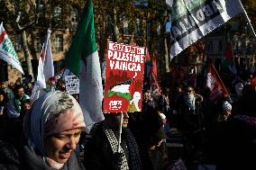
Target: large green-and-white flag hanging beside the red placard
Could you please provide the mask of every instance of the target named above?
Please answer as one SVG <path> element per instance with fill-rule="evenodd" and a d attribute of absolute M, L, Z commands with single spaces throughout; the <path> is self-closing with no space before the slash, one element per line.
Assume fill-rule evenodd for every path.
<path fill-rule="evenodd" d="M 93 4 L 87 0 L 78 30 L 67 52 L 66 67 L 80 79 L 79 103 L 84 112 L 87 132 L 99 121 L 102 112 L 103 86 L 98 52 L 96 49 Z"/>

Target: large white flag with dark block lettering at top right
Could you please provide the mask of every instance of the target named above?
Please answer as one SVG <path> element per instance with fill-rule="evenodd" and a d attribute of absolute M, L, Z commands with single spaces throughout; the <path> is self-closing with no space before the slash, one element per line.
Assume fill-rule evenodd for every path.
<path fill-rule="evenodd" d="M 172 7 L 170 59 L 242 13 L 239 0 L 176 0 Z"/>

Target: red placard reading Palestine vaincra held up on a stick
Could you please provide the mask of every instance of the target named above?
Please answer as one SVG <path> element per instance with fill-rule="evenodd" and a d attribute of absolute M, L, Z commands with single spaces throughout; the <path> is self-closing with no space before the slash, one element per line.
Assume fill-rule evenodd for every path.
<path fill-rule="evenodd" d="M 104 112 L 141 112 L 145 48 L 108 42 Z"/>

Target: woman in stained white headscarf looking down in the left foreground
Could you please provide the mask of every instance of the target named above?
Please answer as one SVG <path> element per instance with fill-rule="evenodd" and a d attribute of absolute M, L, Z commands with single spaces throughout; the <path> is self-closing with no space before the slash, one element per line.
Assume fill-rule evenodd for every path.
<path fill-rule="evenodd" d="M 83 170 L 74 150 L 85 127 L 74 97 L 59 91 L 44 94 L 26 115 L 18 145 L 0 141 L 0 169 Z"/>

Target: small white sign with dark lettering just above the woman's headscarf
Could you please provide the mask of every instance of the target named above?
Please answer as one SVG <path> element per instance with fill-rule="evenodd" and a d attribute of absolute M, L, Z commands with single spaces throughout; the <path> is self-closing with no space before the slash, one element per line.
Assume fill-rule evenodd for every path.
<path fill-rule="evenodd" d="M 69 94 L 79 94 L 78 76 L 65 76 L 65 84 Z"/>

